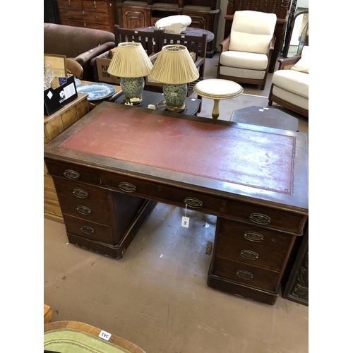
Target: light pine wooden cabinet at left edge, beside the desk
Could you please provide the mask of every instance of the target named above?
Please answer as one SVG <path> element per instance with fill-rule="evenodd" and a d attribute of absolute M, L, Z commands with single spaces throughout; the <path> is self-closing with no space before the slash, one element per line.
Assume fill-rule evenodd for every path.
<path fill-rule="evenodd" d="M 78 98 L 52 115 L 44 115 L 44 147 L 88 113 L 88 95 L 78 93 Z M 44 163 L 44 217 L 64 223 L 59 199 L 52 177 L 47 175 Z"/>

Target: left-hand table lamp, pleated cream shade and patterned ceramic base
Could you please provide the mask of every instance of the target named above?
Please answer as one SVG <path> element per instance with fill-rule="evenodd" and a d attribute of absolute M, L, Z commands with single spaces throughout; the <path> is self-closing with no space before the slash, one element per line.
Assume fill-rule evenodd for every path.
<path fill-rule="evenodd" d="M 145 78 L 152 68 L 150 58 L 140 43 L 119 43 L 108 67 L 108 73 L 120 78 L 126 100 L 140 104 Z"/>

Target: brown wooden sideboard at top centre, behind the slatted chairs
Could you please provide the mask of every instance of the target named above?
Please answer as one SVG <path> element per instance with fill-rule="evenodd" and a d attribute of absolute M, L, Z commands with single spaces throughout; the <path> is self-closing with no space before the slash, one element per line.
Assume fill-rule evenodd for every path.
<path fill-rule="evenodd" d="M 191 17 L 191 27 L 213 32 L 215 38 L 208 42 L 208 57 L 216 52 L 220 0 L 117 0 L 116 13 L 121 28 L 153 26 L 160 18 L 186 15 Z"/>

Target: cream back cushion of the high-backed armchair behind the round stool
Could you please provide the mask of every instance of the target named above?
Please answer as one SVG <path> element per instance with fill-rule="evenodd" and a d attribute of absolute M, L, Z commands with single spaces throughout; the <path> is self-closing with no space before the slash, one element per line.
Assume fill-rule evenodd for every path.
<path fill-rule="evenodd" d="M 259 11 L 236 11 L 230 32 L 229 50 L 268 54 L 277 16 Z"/>

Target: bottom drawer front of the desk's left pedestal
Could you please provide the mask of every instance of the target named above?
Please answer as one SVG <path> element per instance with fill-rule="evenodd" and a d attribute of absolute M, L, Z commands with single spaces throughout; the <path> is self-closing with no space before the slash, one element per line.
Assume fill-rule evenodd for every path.
<path fill-rule="evenodd" d="M 63 215 L 66 232 L 78 235 L 83 238 L 101 241 L 102 243 L 113 244 L 112 229 L 106 225 L 100 225 L 88 220 Z"/>

